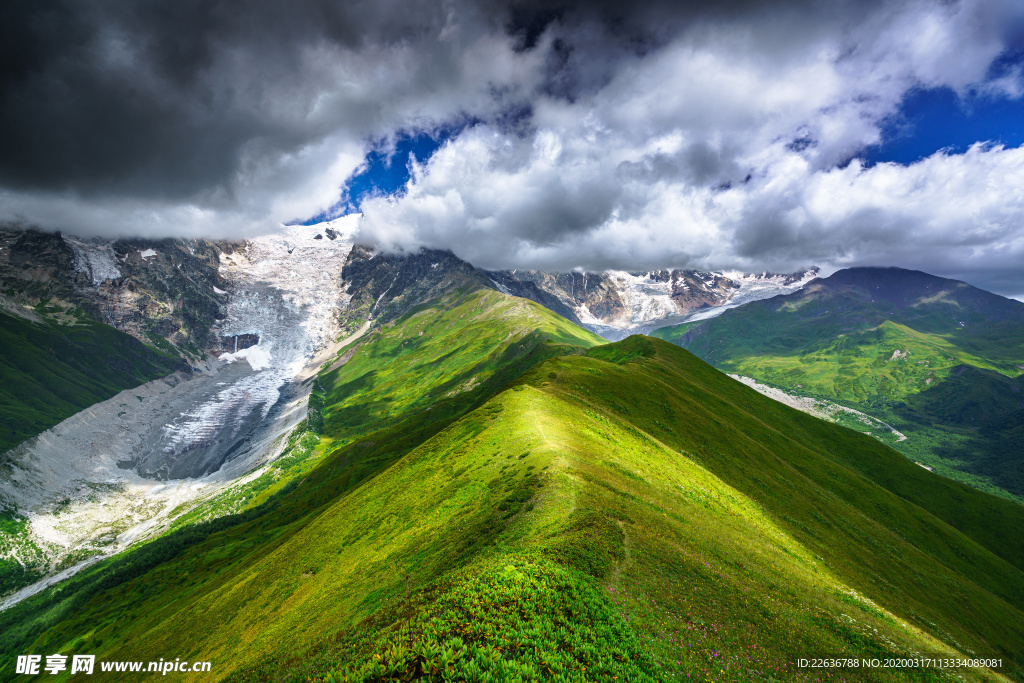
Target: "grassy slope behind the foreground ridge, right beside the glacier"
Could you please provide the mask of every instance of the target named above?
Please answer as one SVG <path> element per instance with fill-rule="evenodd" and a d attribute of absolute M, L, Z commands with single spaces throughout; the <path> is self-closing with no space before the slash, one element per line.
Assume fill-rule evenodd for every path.
<path fill-rule="evenodd" d="M 343 459 L 344 476 L 354 484 L 526 368 L 603 341 L 549 310 L 458 279 L 441 296 L 408 307 L 358 345 L 340 350 L 316 379 L 309 418 L 291 436 L 285 457 L 175 525 L 260 505 L 327 457 Z M 353 458 L 345 449 L 359 439 Z"/>

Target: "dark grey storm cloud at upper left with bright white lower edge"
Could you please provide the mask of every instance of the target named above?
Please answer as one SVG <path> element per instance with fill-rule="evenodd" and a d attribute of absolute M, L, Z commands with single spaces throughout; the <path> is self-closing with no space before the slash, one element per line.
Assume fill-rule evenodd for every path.
<path fill-rule="evenodd" d="M 528 111 L 544 58 L 513 29 L 465 3 L 13 0 L 0 220 L 238 234 L 315 214 L 371 141 Z"/>

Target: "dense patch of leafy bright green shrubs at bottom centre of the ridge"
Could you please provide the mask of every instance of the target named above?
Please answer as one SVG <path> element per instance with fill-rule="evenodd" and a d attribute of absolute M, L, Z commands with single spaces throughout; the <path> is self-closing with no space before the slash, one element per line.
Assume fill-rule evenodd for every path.
<path fill-rule="evenodd" d="M 510 558 L 447 588 L 416 620 L 364 646 L 365 664 L 329 682 L 656 680 L 654 661 L 592 580 Z M 360 657 L 360 659 L 364 657 Z M 314 677 L 315 678 L 315 677 Z"/>

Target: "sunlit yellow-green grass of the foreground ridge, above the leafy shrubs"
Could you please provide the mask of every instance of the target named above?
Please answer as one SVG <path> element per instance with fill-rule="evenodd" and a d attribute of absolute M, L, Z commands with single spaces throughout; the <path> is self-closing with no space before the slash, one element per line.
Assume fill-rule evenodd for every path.
<path fill-rule="evenodd" d="M 602 455 L 596 462 L 595 453 Z M 848 589 L 741 495 L 685 458 L 667 460 L 673 455 L 679 458 L 630 425 L 582 414 L 542 388 L 503 392 L 295 529 L 236 582 L 179 604 L 170 616 L 151 611 L 160 598 L 147 599 L 139 609 L 144 617 L 122 627 L 121 633 L 130 633 L 122 651 L 140 658 L 180 651 L 186 647 L 182 634 L 194 645 L 215 617 L 220 635 L 206 636 L 210 649 L 189 657 L 248 659 L 243 678 L 260 680 L 276 677 L 276 669 L 252 661 L 253 651 L 273 653 L 284 641 L 290 652 L 310 647 L 312 658 L 328 666 L 333 653 L 323 635 L 337 631 L 344 642 L 346 624 L 400 604 L 407 575 L 416 589 L 451 567 L 486 575 L 508 561 L 508 553 L 523 550 L 567 559 L 574 570 L 607 581 L 606 595 L 622 598 L 620 609 L 648 656 L 673 663 L 660 677 L 703 671 L 734 680 L 733 674 L 752 669 L 771 677 L 769 671 L 785 667 L 793 647 L 885 651 L 871 629 L 882 629 L 897 649 L 941 647 L 866 607 L 854 612 L 857 628 L 841 628 L 838 614 L 845 612 L 822 614 L 821 606 L 849 611 L 840 597 L 849 598 Z M 605 468 L 609 458 L 618 467 Z M 677 481 L 695 490 L 672 490 Z M 532 509 L 522 504 L 522 488 L 532 489 L 525 499 Z M 694 523 L 700 525 L 695 533 L 681 528 Z M 774 582 L 762 585 L 766 575 Z M 240 579 L 246 586 L 241 592 Z M 680 592 L 681 586 L 699 590 Z M 648 604 L 652 591 L 659 607 Z M 735 620 L 737 611 L 755 616 L 753 625 Z M 697 647 L 684 653 L 679 643 L 658 638 L 667 622 L 688 627 Z M 225 634 L 231 636 L 224 640 Z M 716 652 L 727 660 L 712 665 Z M 669 653 L 683 657 L 681 664 L 666 659 Z M 553 658 L 554 652 L 543 654 Z M 891 680 L 927 679 L 908 674 Z"/>

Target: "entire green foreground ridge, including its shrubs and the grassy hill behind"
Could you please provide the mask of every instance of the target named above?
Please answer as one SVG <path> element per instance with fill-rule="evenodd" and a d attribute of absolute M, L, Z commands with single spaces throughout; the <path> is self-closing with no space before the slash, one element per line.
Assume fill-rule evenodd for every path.
<path fill-rule="evenodd" d="M 928 681 L 954 679 L 795 661 L 959 652 L 1004 664 L 956 680 L 1024 680 L 1024 508 L 665 342 L 598 342 L 494 291 L 407 312 L 321 373 L 301 478 L 0 612 L 0 678 L 59 651 L 231 681 Z"/>

